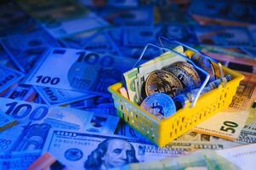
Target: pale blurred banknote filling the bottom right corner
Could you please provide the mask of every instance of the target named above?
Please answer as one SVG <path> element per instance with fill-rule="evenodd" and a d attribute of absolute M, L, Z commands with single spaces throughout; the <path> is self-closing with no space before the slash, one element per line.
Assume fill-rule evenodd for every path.
<path fill-rule="evenodd" d="M 226 150 L 201 150 L 188 156 L 133 163 L 116 169 L 254 169 L 256 144 Z"/>

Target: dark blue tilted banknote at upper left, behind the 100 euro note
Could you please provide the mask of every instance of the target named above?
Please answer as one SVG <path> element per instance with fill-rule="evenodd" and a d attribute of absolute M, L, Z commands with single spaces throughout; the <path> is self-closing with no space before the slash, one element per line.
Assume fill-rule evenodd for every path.
<path fill-rule="evenodd" d="M 2 39 L 3 48 L 9 53 L 11 59 L 20 69 L 28 72 L 50 47 L 60 47 L 54 37 L 43 28 L 14 35 Z"/>

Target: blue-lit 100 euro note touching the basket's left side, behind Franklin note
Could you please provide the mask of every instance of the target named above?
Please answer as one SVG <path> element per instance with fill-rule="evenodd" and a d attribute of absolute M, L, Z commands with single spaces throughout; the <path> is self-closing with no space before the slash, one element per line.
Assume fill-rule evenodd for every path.
<path fill-rule="evenodd" d="M 128 71 L 134 63 L 134 59 L 110 54 L 53 48 L 38 61 L 25 83 L 105 95 L 107 88 L 122 81 L 122 72 Z"/>

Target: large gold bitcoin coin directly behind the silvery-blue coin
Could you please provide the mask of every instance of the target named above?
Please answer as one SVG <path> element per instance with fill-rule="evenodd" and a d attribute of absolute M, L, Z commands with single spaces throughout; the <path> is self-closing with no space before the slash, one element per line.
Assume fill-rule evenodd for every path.
<path fill-rule="evenodd" d="M 145 81 L 145 94 L 168 94 L 174 97 L 184 90 L 182 82 L 173 73 L 168 71 L 153 71 Z"/>

